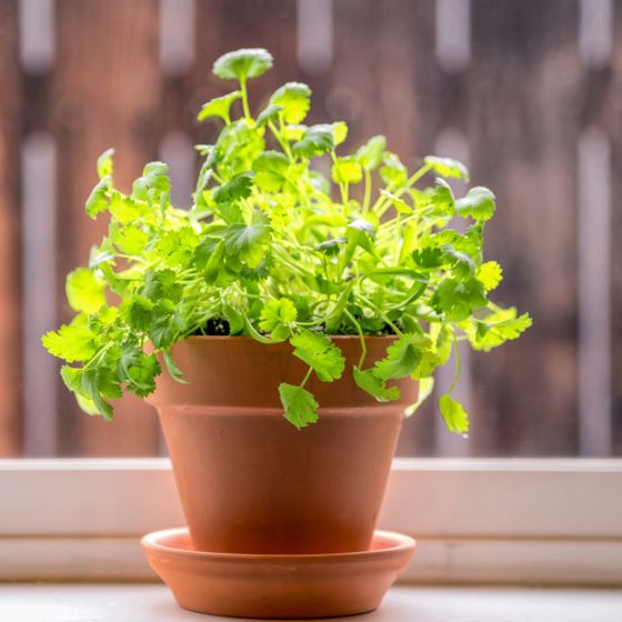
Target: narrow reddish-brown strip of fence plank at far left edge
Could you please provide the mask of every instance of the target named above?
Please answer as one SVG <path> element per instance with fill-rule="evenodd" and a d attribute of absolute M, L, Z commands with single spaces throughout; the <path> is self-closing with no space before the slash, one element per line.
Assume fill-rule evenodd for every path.
<path fill-rule="evenodd" d="M 0 458 L 21 453 L 18 2 L 0 2 Z"/>

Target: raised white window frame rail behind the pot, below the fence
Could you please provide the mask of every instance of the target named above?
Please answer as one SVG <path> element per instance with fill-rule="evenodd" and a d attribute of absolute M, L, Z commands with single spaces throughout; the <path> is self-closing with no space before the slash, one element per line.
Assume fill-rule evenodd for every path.
<path fill-rule="evenodd" d="M 620 586 L 620 490 L 622 460 L 402 459 L 379 526 L 418 540 L 404 583 Z M 163 459 L 0 461 L 0 581 L 153 580 L 140 536 L 183 524 Z"/>

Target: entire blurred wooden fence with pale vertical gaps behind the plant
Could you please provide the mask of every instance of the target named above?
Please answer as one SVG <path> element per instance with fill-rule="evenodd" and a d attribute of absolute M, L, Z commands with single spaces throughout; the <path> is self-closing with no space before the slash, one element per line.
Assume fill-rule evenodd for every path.
<path fill-rule="evenodd" d="M 116 148 L 126 187 L 170 161 L 183 204 L 192 144 L 213 137 L 194 121 L 222 89 L 211 63 L 258 46 L 275 69 L 255 102 L 305 81 L 312 121 L 344 119 L 349 146 L 462 157 L 496 193 L 498 295 L 534 325 L 466 357 L 471 439 L 429 404 L 401 451 L 621 454 L 622 1 L 0 0 L 0 455 L 161 451 L 136 399 L 112 424 L 80 414 L 39 337 L 102 233 L 82 211 L 97 156 Z"/>

